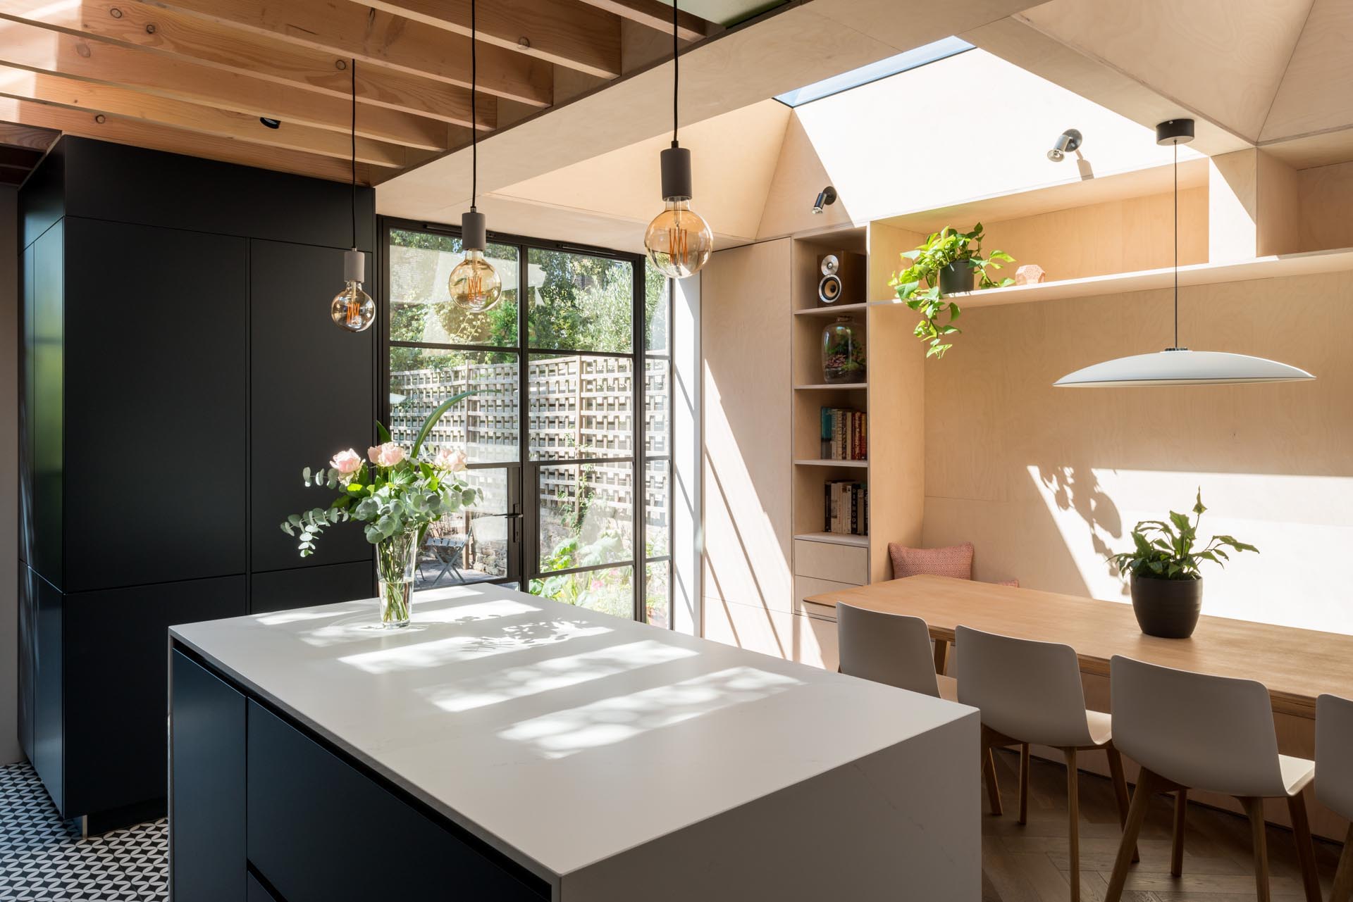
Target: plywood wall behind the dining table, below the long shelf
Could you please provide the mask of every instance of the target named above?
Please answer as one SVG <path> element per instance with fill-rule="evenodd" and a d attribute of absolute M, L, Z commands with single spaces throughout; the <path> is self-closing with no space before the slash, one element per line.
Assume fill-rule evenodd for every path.
<path fill-rule="evenodd" d="M 1170 293 L 970 310 L 925 365 L 925 545 L 971 541 L 976 577 L 1127 600 L 1104 561 L 1187 510 L 1260 546 L 1207 571 L 1204 613 L 1353 633 L 1353 273 L 1188 288 L 1180 339 L 1281 360 L 1312 383 L 1053 388 L 1170 343 Z"/>

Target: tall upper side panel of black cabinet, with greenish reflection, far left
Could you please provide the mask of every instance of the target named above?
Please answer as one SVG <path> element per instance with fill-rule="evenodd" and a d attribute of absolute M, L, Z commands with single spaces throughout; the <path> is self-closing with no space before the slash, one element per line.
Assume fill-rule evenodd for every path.
<path fill-rule="evenodd" d="M 32 245 L 32 495 L 31 564 L 62 588 L 62 468 L 65 399 L 65 220 Z"/>

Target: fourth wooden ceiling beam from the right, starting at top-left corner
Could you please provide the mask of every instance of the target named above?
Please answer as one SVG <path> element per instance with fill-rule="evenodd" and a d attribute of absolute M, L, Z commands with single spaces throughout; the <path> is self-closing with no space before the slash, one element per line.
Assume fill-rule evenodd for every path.
<path fill-rule="evenodd" d="M 0 0 L 0 15 L 91 35 L 145 50 L 184 57 L 265 81 L 346 100 L 352 85 L 348 57 L 249 34 L 199 16 L 127 0 Z M 341 68 L 340 68 L 341 66 Z M 469 126 L 469 92 L 444 81 L 384 66 L 357 68 L 357 100 L 457 126 Z M 492 128 L 497 103 L 480 97 L 479 127 Z"/>

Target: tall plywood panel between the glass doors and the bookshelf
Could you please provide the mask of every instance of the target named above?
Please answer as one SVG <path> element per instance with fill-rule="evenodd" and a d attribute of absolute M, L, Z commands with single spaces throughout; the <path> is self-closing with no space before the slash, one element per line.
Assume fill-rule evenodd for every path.
<path fill-rule="evenodd" d="M 701 272 L 706 630 L 723 617 L 773 636 L 771 614 L 790 614 L 790 245 L 721 250 Z"/>

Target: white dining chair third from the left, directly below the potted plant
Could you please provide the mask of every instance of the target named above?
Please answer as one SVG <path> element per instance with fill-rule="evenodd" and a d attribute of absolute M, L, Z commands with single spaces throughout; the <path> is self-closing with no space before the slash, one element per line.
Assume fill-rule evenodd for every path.
<path fill-rule="evenodd" d="M 1260 902 L 1269 899 L 1264 799 L 1285 799 L 1307 902 L 1321 902 L 1315 847 L 1302 795 L 1315 775 L 1315 763 L 1279 755 L 1273 702 L 1264 684 L 1114 656 L 1109 686 L 1114 741 L 1123 755 L 1142 765 L 1142 771 L 1109 878 L 1107 902 L 1118 902 L 1123 895 L 1131 864 L 1128 848 L 1137 841 L 1154 792 L 1176 794 L 1170 874 L 1180 876 L 1188 790 L 1233 795 L 1241 802 L 1250 818 Z"/>

